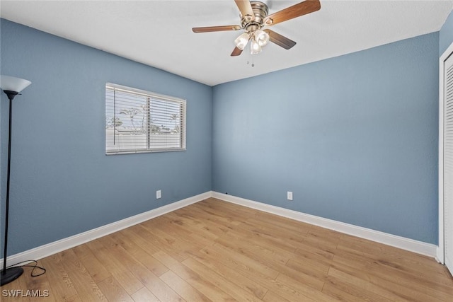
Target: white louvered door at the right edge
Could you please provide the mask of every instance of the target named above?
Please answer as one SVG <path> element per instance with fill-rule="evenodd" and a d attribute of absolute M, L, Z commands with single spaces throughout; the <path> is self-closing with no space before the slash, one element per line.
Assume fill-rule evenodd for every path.
<path fill-rule="evenodd" d="M 453 54 L 444 62 L 443 191 L 445 265 L 453 274 Z"/>

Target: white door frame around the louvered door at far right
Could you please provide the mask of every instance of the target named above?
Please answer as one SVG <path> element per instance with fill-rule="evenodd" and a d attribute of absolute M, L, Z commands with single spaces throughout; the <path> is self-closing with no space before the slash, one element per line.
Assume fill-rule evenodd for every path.
<path fill-rule="evenodd" d="M 445 264 L 445 212 L 444 212 L 444 64 L 453 55 L 453 42 L 439 58 L 439 244 L 437 247 L 437 261 Z"/>

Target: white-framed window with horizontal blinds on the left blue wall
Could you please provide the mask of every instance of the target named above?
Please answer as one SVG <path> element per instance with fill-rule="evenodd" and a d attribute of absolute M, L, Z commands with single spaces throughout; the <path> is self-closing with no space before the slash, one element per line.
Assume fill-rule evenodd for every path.
<path fill-rule="evenodd" d="M 185 150 L 185 100 L 105 85 L 105 153 Z"/>

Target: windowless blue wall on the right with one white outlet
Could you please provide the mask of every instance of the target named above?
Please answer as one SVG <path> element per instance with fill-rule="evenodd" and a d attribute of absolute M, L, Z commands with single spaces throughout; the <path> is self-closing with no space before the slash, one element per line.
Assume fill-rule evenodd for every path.
<path fill-rule="evenodd" d="M 432 33 L 214 86 L 213 190 L 437 243 L 438 53 Z"/>

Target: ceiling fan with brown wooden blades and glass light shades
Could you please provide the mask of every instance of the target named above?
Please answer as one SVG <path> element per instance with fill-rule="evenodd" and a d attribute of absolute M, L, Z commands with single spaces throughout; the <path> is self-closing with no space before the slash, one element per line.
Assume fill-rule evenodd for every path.
<path fill-rule="evenodd" d="M 244 48 L 250 42 L 251 54 L 258 54 L 261 52 L 261 47 L 273 42 L 276 45 L 289 50 L 289 48 L 296 45 L 296 42 L 289 40 L 287 37 L 282 36 L 275 31 L 268 28 L 262 29 L 265 26 L 275 25 L 292 18 L 304 16 L 307 13 L 319 11 L 321 4 L 319 0 L 306 0 L 299 4 L 289 6 L 282 11 L 268 15 L 268 6 L 260 1 L 250 0 L 234 0 L 239 8 L 239 16 L 241 17 L 241 25 L 222 25 L 222 26 L 207 26 L 202 28 L 192 28 L 194 33 L 209 33 L 215 31 L 226 30 L 245 30 L 245 33 L 239 35 L 234 40 L 233 52 L 231 56 L 239 56 Z"/>

